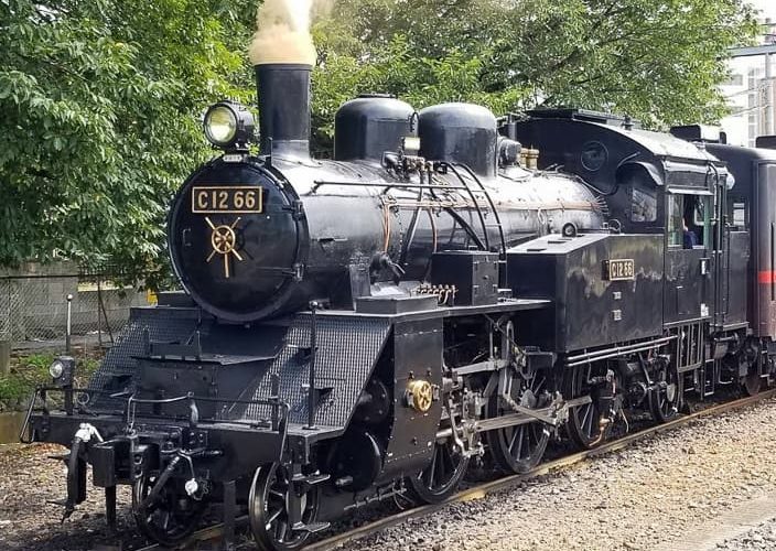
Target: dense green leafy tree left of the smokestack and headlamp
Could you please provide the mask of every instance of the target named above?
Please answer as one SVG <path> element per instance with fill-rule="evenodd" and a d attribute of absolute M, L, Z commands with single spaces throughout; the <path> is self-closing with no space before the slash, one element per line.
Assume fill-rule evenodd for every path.
<path fill-rule="evenodd" d="M 165 206 L 212 154 L 200 114 L 250 97 L 252 10 L 0 0 L 0 264 L 61 256 L 159 269 Z"/>

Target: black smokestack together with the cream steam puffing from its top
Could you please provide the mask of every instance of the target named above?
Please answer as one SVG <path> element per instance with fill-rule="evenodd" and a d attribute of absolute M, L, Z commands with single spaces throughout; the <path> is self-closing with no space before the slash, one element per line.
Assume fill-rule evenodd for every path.
<path fill-rule="evenodd" d="M 261 153 L 310 158 L 313 0 L 265 0 L 250 45 L 259 93 Z"/>

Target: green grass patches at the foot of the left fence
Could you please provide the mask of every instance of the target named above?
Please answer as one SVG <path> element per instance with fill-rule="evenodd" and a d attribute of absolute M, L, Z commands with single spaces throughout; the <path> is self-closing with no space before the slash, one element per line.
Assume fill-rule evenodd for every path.
<path fill-rule="evenodd" d="M 36 386 L 51 383 L 48 366 L 55 357 L 55 354 L 32 354 L 12 360 L 10 375 L 0 376 L 0 411 L 19 409 Z M 76 361 L 76 387 L 85 386 L 99 367 L 99 359 L 86 352 L 77 355 Z"/>

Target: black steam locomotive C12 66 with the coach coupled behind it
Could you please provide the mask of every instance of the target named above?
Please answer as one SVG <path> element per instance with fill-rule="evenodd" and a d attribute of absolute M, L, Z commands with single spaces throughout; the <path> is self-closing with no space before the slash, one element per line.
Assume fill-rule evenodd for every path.
<path fill-rule="evenodd" d="M 295 549 L 444 499 L 473 458 L 525 472 L 561 432 L 592 447 L 776 371 L 776 152 L 364 96 L 314 160 L 310 72 L 257 67 L 259 156 L 245 108 L 209 109 L 224 153 L 169 218 L 185 292 L 133 310 L 87 389 L 60 358 L 36 392 L 25 437 L 69 447 L 65 515 L 91 465 L 108 520 L 130 485 L 163 544 L 223 503 L 227 534 L 244 508 L 260 548 Z"/>

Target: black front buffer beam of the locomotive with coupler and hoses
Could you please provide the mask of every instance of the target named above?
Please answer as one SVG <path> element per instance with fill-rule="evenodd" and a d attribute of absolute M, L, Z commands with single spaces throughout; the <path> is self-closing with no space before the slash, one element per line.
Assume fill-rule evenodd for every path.
<path fill-rule="evenodd" d="M 58 456 L 67 466 L 63 521 L 86 499 L 86 471 L 91 465 L 94 485 L 105 488 L 106 519 L 116 521 L 116 487 L 153 477 L 153 487 L 138 504 L 154 501 L 172 479 L 181 480 L 182 497 L 201 500 L 215 484 L 223 485 L 226 511 L 234 514 L 234 480 L 249 476 L 257 465 L 280 461 L 285 447 L 288 404 L 277 398 L 242 403 L 265 406 L 266 420 L 200 419 L 198 401 L 187 395 L 168 400 L 127 401 L 123 413 L 98 413 L 84 407 L 69 411 L 53 410 L 47 392 L 39 389 L 31 401 L 22 429 L 22 442 L 54 442 L 69 446 Z M 116 398 L 116 397 L 111 397 Z M 164 407 L 186 401 L 191 414 L 183 420 L 164 415 Z M 211 399 L 212 401 L 212 399 Z M 138 406 L 149 411 L 138 412 Z M 185 484 L 183 484 L 185 483 Z M 225 519 L 229 522 L 229 519 Z M 234 527 L 234 519 L 229 522 Z"/>

